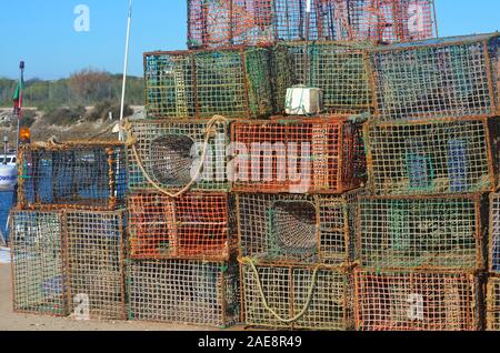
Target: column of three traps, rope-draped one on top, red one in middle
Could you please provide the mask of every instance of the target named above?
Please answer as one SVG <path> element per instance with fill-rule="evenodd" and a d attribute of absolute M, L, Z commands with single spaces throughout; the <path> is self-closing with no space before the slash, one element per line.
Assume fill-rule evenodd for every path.
<path fill-rule="evenodd" d="M 128 317 L 230 326 L 240 321 L 229 122 L 133 122 L 129 148 Z M 202 155 L 206 155 L 202 172 Z M 189 192 L 177 193 L 194 181 Z"/>

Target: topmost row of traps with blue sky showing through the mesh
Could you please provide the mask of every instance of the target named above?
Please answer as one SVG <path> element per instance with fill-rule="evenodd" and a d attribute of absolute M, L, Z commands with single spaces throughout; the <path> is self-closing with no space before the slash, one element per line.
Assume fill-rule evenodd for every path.
<path fill-rule="evenodd" d="M 420 40 L 434 34 L 433 10 L 428 0 L 189 0 L 188 46 Z"/>

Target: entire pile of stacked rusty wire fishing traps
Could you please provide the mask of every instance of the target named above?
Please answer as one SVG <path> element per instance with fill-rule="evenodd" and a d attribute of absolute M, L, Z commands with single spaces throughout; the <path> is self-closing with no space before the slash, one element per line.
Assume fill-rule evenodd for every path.
<path fill-rule="evenodd" d="M 16 311 L 500 330 L 500 34 L 434 36 L 429 0 L 188 0 L 124 144 L 21 149 Z"/>

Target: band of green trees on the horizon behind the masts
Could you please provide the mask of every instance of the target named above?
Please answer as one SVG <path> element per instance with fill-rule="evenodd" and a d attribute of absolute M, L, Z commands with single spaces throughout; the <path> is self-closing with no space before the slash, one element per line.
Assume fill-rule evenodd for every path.
<path fill-rule="evenodd" d="M 126 101 L 132 105 L 143 104 L 143 80 L 129 77 Z M 37 107 L 53 112 L 58 107 L 97 105 L 102 101 L 120 101 L 122 75 L 86 69 L 68 79 L 57 81 L 28 80 L 24 107 Z M 12 107 L 17 81 L 0 78 L 0 107 Z"/>

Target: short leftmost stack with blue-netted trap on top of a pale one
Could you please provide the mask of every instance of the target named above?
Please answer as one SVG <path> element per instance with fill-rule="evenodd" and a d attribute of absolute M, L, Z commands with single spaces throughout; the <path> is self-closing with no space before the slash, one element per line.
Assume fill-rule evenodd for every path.
<path fill-rule="evenodd" d="M 16 311 L 124 319 L 124 152 L 100 142 L 21 148 Z"/>

